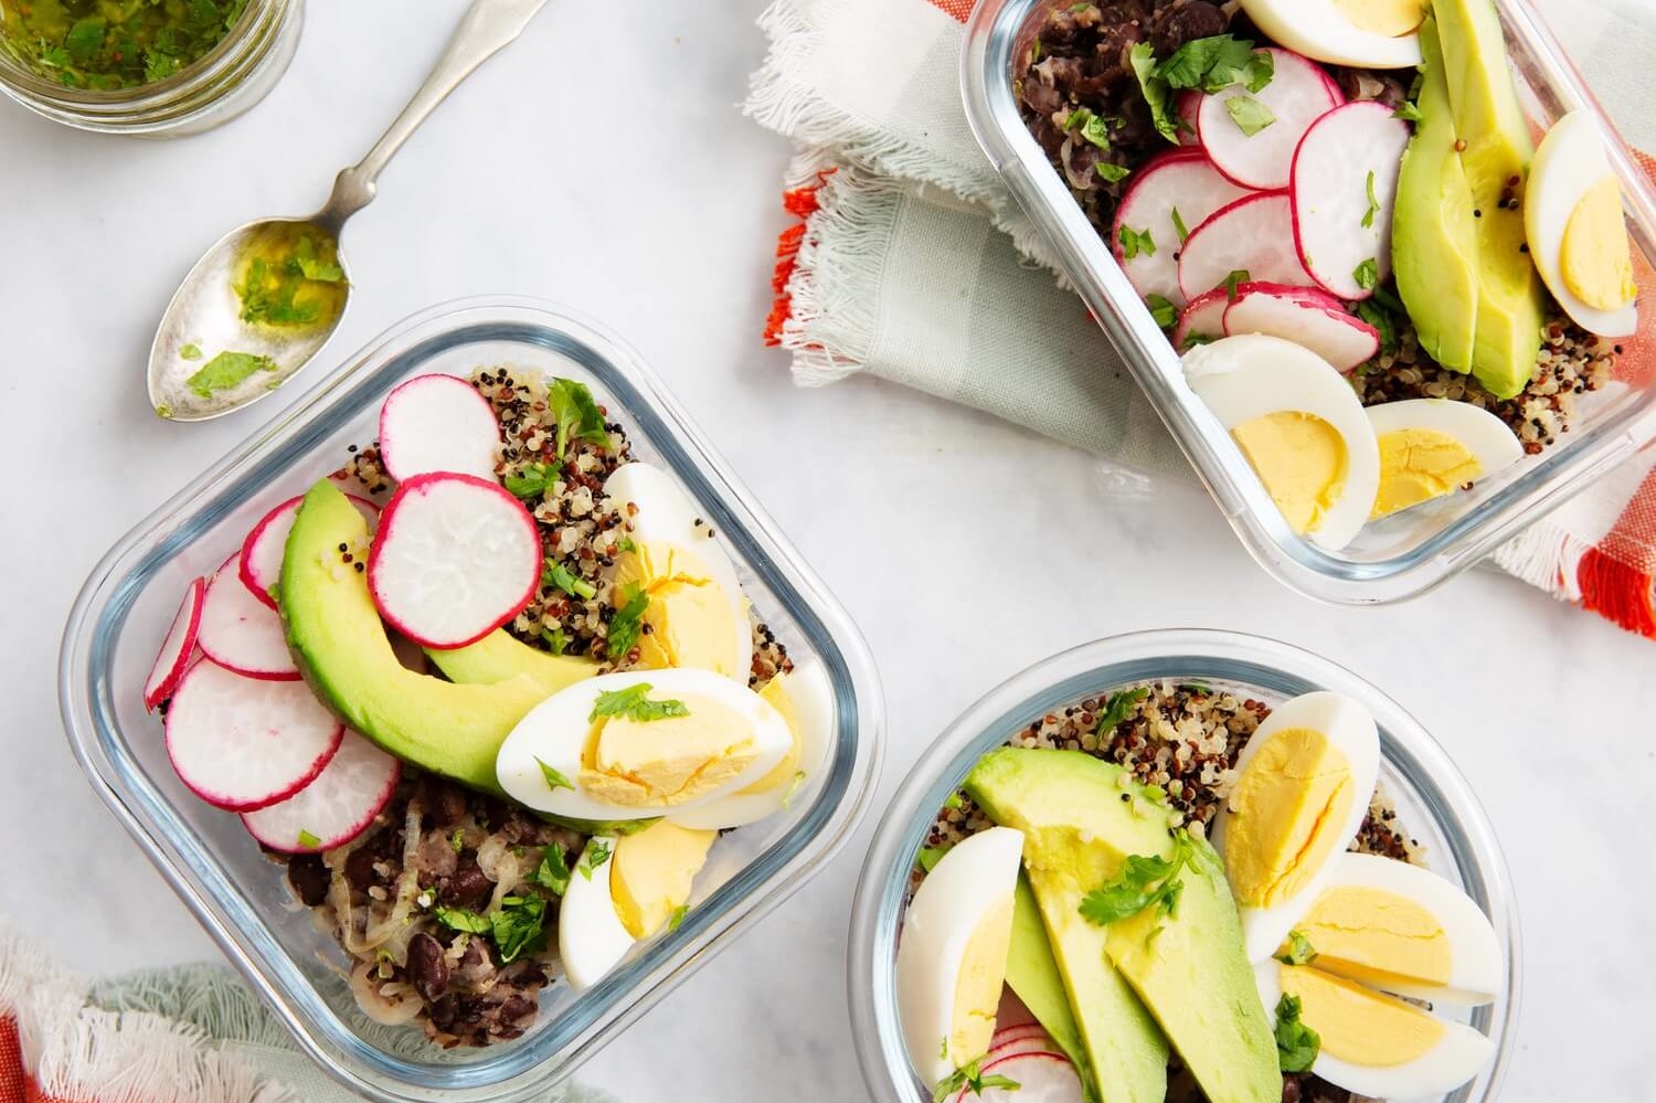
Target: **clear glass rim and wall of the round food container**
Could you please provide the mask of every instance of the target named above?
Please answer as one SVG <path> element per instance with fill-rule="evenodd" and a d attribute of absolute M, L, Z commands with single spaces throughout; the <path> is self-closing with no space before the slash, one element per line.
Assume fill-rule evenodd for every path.
<path fill-rule="evenodd" d="M 879 820 L 851 904 L 851 1032 L 873 1096 L 903 1103 L 931 1100 L 931 1085 L 921 1083 L 903 1040 L 894 967 L 909 871 L 944 800 L 985 752 L 1048 712 L 1159 679 L 1202 682 L 1267 704 L 1331 689 L 1373 714 L 1379 727 L 1379 783 L 1396 807 L 1398 821 L 1424 846 L 1431 869 L 1462 888 L 1495 929 L 1507 967 L 1505 992 L 1494 1004 L 1457 1009 L 1456 1015 L 1490 1037 L 1495 1058 L 1475 1080 L 1442 1096 L 1442 1103 L 1495 1100 L 1519 1017 L 1519 921 L 1494 828 L 1466 778 L 1414 717 L 1351 671 L 1285 643 L 1211 629 L 1110 636 L 1042 659 L 970 706 L 914 763 Z"/>

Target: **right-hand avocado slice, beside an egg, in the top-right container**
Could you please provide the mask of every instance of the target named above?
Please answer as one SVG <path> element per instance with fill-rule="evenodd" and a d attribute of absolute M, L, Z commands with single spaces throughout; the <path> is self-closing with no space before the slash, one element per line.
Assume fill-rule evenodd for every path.
<path fill-rule="evenodd" d="M 1545 298 L 1524 252 L 1524 181 L 1535 144 L 1507 68 L 1507 43 L 1490 0 L 1432 0 L 1437 45 L 1461 167 L 1472 187 L 1477 232 L 1477 333 L 1472 374 L 1512 397 L 1535 374 Z M 1509 200 L 1509 202 L 1504 202 Z"/>

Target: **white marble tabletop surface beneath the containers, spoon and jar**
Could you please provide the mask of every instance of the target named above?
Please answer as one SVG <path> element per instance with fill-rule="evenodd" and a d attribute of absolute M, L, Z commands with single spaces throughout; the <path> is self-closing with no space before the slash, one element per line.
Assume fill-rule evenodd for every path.
<path fill-rule="evenodd" d="M 0 104 L 0 467 L 17 480 L 0 508 L 0 914 L 81 967 L 215 949 L 70 759 L 63 619 L 119 533 L 306 386 L 207 426 L 157 422 L 154 321 L 224 229 L 321 202 L 457 7 L 313 2 L 286 81 L 189 141 L 83 136 Z M 788 151 L 734 108 L 758 8 L 548 5 L 351 227 L 335 353 L 490 290 L 624 330 L 873 646 L 889 745 L 869 821 L 969 701 L 1083 639 L 1211 624 L 1356 667 L 1449 744 L 1505 840 L 1528 966 L 1507 1098 L 1649 1098 L 1656 646 L 1482 571 L 1401 608 L 1323 608 L 1265 578 L 1191 487 L 1123 499 L 1088 455 L 969 411 L 868 381 L 792 389 L 757 341 Z M 866 836 L 583 1075 L 629 1103 L 864 1098 L 841 977 Z"/>

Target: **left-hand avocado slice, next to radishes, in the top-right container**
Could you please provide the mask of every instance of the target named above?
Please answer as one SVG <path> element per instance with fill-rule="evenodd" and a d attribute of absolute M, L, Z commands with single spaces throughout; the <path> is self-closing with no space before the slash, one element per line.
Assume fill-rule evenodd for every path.
<path fill-rule="evenodd" d="M 1421 25 L 1421 121 L 1403 154 L 1391 215 L 1391 272 L 1427 356 L 1472 371 L 1477 331 L 1477 230 L 1472 187 L 1456 154 L 1454 116 L 1437 30 Z"/>

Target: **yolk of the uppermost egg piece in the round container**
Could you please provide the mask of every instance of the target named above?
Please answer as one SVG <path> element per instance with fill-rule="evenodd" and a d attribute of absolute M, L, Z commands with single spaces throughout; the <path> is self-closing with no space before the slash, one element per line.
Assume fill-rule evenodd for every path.
<path fill-rule="evenodd" d="M 1308 727 L 1272 735 L 1227 805 L 1225 873 L 1237 901 L 1270 908 L 1298 894 L 1345 845 L 1353 798 L 1351 763 L 1326 735 Z"/>

